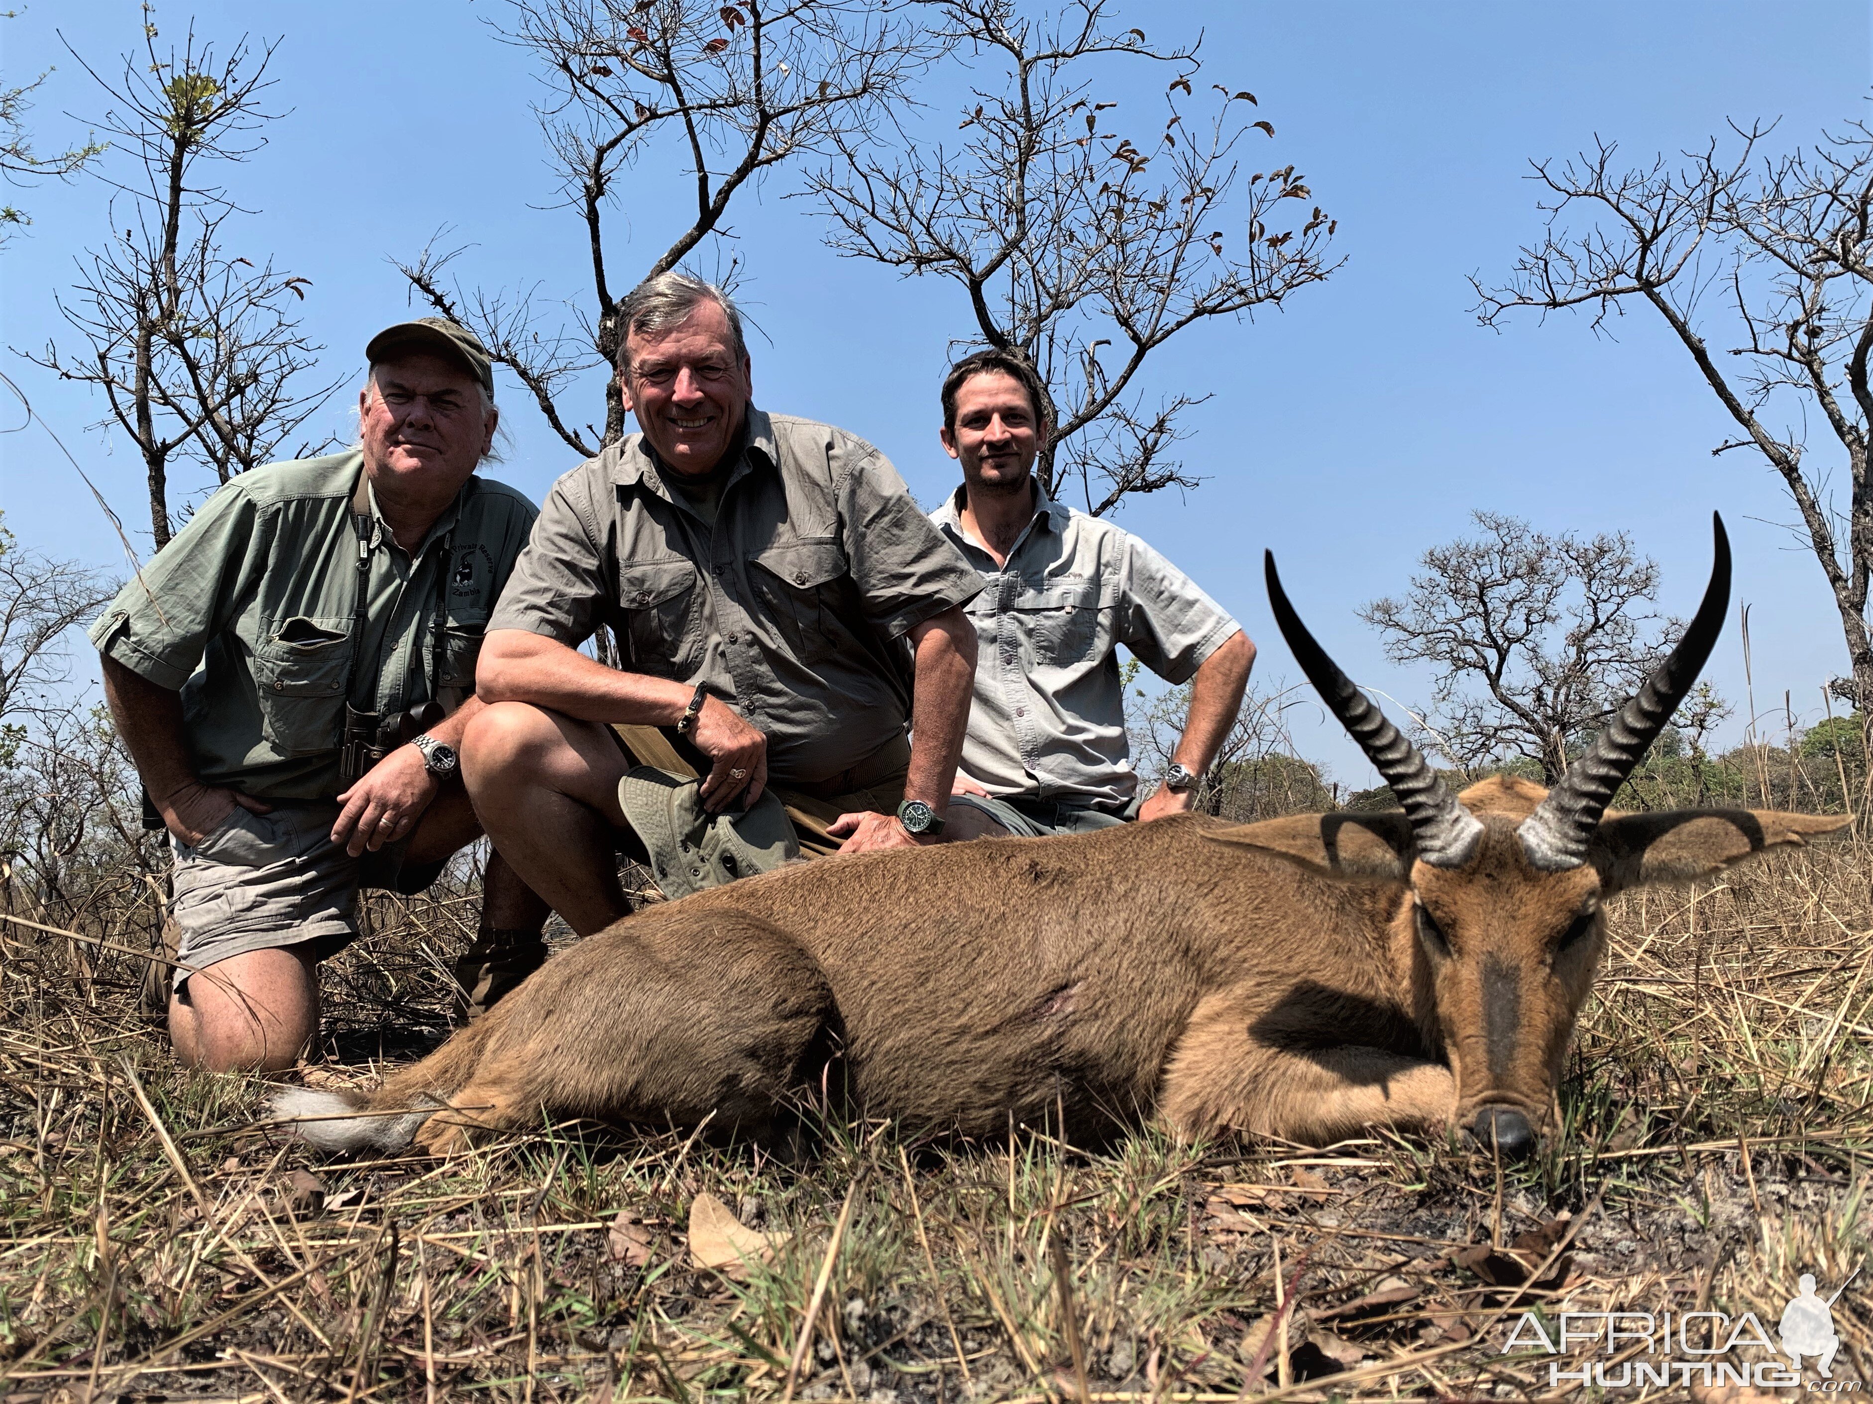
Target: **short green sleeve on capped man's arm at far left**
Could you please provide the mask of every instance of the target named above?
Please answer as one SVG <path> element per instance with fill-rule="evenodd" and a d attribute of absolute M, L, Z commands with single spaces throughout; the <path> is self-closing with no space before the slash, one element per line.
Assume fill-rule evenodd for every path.
<path fill-rule="evenodd" d="M 260 517 L 240 479 L 208 498 L 90 627 L 97 651 L 157 687 L 182 691 L 208 640 L 258 584 L 266 567 Z"/>

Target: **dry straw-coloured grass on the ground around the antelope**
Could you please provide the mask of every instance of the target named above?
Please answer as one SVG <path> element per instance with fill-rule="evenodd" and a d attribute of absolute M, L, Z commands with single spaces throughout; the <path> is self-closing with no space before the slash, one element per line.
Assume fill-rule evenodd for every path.
<path fill-rule="evenodd" d="M 139 1028 L 127 955 L 92 951 L 81 973 L 73 942 L 9 925 L 0 1393 L 1568 1393 L 1549 1357 L 1502 1353 L 1519 1312 L 1714 1307 L 1774 1331 L 1798 1273 L 1832 1292 L 1866 1260 L 1869 885 L 1873 852 L 1841 844 L 1626 899 L 1562 1090 L 1568 1134 L 1515 1168 L 1390 1138 L 931 1148 L 824 1118 L 794 1164 L 541 1127 L 448 1164 L 315 1166 L 249 1125 L 257 1082 L 185 1075 Z M 307 1080 L 363 1080 L 440 1037 L 438 966 L 470 910 L 465 893 L 376 906 L 378 934 L 328 972 L 330 1046 Z M 775 1258 L 744 1280 L 697 1267 L 704 1192 L 787 1236 Z M 1541 1226 L 1517 1262 L 1508 1245 Z M 1836 1376 L 1873 1383 L 1864 1284 L 1834 1309 Z"/>

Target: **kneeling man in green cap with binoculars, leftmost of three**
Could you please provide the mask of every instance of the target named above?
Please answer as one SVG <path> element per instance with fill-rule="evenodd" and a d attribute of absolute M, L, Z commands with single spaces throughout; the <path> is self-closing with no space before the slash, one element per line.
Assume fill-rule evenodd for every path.
<path fill-rule="evenodd" d="M 455 747 L 538 513 L 476 475 L 498 416 L 474 333 L 401 322 L 365 358 L 356 449 L 229 481 L 92 627 L 174 844 L 169 1030 L 210 1071 L 290 1067 L 358 889 L 421 891 L 481 835 Z M 478 945 L 538 945 L 545 915 L 491 857 Z"/>

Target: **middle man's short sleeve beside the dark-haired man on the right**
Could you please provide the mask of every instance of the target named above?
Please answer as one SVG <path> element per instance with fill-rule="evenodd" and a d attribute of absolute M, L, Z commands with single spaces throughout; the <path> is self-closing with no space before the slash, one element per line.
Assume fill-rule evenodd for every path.
<path fill-rule="evenodd" d="M 839 520 L 865 618 L 892 638 L 981 593 L 981 573 L 923 515 L 890 461 L 862 446 Z"/>

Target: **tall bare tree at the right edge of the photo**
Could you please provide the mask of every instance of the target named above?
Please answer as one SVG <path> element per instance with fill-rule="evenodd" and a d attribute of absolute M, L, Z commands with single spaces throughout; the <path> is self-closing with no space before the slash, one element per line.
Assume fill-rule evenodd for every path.
<path fill-rule="evenodd" d="M 1521 251 L 1506 286 L 1476 285 L 1478 314 L 1500 326 L 1523 307 L 1586 309 L 1605 331 L 1637 303 L 1671 328 L 1740 429 L 1714 453 L 1759 453 L 1794 500 L 1791 530 L 1821 563 L 1847 638 L 1852 681 L 1839 691 L 1866 709 L 1873 129 L 1852 122 L 1809 152 L 1762 159 L 1764 125 L 1733 133 L 1680 163 L 1624 168 L 1609 142 L 1568 163 L 1538 161 L 1547 232 Z M 1809 461 L 1817 423 L 1826 429 Z"/>

